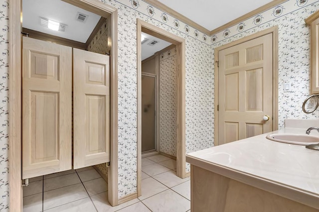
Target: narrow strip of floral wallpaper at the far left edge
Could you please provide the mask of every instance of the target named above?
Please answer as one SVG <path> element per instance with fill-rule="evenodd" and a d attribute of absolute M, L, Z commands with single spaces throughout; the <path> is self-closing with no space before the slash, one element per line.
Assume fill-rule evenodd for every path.
<path fill-rule="evenodd" d="M 0 211 L 9 210 L 8 164 L 8 1 L 0 4 Z"/>

